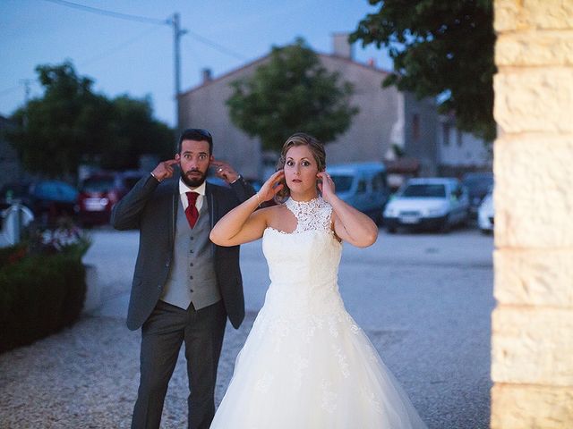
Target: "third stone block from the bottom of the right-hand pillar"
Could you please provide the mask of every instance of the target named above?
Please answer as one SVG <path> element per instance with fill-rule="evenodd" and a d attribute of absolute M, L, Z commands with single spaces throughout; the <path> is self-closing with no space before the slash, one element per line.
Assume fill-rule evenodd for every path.
<path fill-rule="evenodd" d="M 496 250 L 493 260 L 493 295 L 501 305 L 573 309 L 573 248 L 505 248 Z"/>

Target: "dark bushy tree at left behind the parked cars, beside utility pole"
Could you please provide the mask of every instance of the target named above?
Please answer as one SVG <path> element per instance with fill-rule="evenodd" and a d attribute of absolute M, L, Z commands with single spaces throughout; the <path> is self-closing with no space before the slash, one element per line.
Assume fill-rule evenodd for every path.
<path fill-rule="evenodd" d="M 30 172 L 69 178 L 82 160 L 120 169 L 136 167 L 144 153 L 171 155 L 173 134 L 152 118 L 148 99 L 95 94 L 93 80 L 78 76 L 72 63 L 36 71 L 44 95 L 13 114 L 16 127 L 7 135 Z"/>

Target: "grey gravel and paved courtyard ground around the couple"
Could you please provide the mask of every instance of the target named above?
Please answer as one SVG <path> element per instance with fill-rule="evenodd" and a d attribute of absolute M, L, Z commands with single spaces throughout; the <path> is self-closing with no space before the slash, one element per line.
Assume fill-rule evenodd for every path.
<path fill-rule="evenodd" d="M 103 305 L 78 324 L 0 355 L 0 427 L 124 428 L 138 382 L 139 332 L 124 325 L 136 232 L 92 231 L 85 262 L 96 266 Z M 230 325 L 217 400 L 261 308 L 268 271 L 261 242 L 242 248 L 247 307 Z M 345 246 L 339 284 L 346 308 L 435 429 L 489 425 L 492 237 L 387 235 L 365 249 Z M 167 392 L 165 428 L 186 427 L 187 379 L 180 355 Z"/>

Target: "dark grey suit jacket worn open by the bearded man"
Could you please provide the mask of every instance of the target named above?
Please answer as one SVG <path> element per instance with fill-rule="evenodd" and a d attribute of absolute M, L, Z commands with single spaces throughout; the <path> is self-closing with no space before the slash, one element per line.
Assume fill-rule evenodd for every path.
<path fill-rule="evenodd" d="M 132 292 L 127 311 L 127 327 L 136 330 L 150 316 L 173 260 L 176 211 L 183 209 L 179 179 L 162 181 L 151 175 L 138 181 L 113 208 L 111 223 L 116 230 L 138 229 L 140 247 L 133 273 Z M 205 198 L 209 205 L 211 228 L 228 211 L 254 195 L 242 178 L 231 189 L 207 183 Z M 212 244 L 218 287 L 231 324 L 238 328 L 244 319 L 243 280 L 239 268 L 239 247 Z"/>

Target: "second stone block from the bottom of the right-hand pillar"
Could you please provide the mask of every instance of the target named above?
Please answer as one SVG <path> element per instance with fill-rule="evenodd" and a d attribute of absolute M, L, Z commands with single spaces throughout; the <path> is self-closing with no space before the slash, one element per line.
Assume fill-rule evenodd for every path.
<path fill-rule="evenodd" d="M 496 279 L 496 288 L 502 288 Z M 573 386 L 573 309 L 498 306 L 492 313 L 494 383 Z"/>

